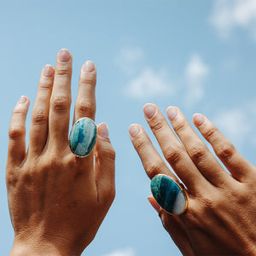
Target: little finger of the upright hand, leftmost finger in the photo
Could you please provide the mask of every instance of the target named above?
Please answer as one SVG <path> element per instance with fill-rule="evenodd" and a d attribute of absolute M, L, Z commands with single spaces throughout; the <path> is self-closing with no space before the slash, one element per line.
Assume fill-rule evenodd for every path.
<path fill-rule="evenodd" d="M 9 125 L 8 161 L 16 166 L 20 165 L 26 156 L 26 113 L 29 99 L 20 96 L 16 104 Z"/>

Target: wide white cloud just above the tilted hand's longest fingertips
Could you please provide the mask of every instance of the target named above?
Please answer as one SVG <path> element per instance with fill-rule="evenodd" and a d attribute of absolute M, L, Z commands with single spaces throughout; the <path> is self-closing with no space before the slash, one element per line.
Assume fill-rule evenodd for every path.
<path fill-rule="evenodd" d="M 125 93 L 137 99 L 173 94 L 173 85 L 168 81 L 165 72 L 155 72 L 151 67 L 142 72 L 126 87 Z"/>

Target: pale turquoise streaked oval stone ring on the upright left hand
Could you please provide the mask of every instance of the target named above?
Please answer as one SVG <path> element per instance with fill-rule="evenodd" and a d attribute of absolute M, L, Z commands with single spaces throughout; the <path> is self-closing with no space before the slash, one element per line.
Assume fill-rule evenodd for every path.
<path fill-rule="evenodd" d="M 90 154 L 96 143 L 97 127 L 89 118 L 78 119 L 72 127 L 69 135 L 69 148 L 78 157 L 86 157 Z"/>

